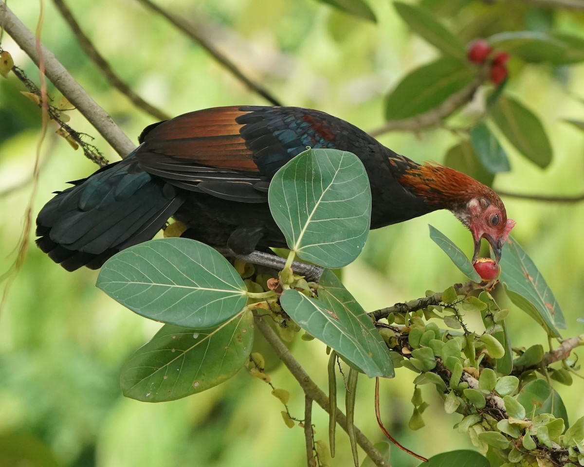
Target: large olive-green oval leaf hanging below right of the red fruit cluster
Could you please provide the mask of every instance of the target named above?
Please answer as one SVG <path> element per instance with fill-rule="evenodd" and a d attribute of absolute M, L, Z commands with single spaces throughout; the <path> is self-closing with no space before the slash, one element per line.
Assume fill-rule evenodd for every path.
<path fill-rule="evenodd" d="M 509 96 L 500 96 L 491 117 L 507 140 L 527 159 L 545 169 L 551 162 L 552 148 L 545 128 L 531 110 Z"/>

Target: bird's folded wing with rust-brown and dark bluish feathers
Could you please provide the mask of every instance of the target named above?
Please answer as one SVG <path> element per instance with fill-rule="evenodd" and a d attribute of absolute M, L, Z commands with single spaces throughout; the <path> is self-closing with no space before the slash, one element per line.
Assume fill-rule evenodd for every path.
<path fill-rule="evenodd" d="M 143 170 L 183 189 L 264 203 L 269 180 L 291 158 L 309 146 L 335 147 L 330 119 L 298 107 L 198 110 L 147 127 L 136 157 Z"/>

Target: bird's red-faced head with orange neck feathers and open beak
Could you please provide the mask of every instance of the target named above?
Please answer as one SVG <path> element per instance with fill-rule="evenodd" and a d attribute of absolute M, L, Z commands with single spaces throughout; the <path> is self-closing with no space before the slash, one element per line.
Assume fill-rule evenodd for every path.
<path fill-rule="evenodd" d="M 515 221 L 507 219 L 505 205 L 495 191 L 458 170 L 434 163 L 409 169 L 399 177 L 399 182 L 425 203 L 450 210 L 467 226 L 474 240 L 473 262 L 478 258 L 483 238 L 491 244 L 499 262 Z"/>

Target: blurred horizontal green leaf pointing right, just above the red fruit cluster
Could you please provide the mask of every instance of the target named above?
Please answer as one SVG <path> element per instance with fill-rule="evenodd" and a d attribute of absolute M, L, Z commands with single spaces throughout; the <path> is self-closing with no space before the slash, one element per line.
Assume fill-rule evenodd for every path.
<path fill-rule="evenodd" d="M 561 63 L 568 46 L 548 34 L 537 31 L 509 31 L 495 34 L 488 39 L 497 50 L 505 50 L 513 57 L 526 62 Z"/>

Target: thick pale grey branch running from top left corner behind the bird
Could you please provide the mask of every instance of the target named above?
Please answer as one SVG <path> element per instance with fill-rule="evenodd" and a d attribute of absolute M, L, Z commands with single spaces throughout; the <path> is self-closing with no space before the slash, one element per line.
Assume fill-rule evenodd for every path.
<path fill-rule="evenodd" d="M 23 51 L 39 66 L 39 53 L 36 48 L 36 38 L 23 23 L 16 18 L 4 0 L 0 0 L 0 24 L 6 32 L 22 48 Z M 122 157 L 134 150 L 135 144 L 120 130 L 105 110 L 79 85 L 67 69 L 57 60 L 55 55 L 40 44 L 47 78 L 67 97 L 81 114 L 99 131 L 105 140 Z"/>

